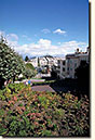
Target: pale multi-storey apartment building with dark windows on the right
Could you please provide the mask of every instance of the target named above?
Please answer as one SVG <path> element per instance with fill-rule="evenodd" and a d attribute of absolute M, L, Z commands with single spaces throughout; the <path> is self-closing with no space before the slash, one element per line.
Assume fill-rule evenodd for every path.
<path fill-rule="evenodd" d="M 58 60 L 58 66 L 54 71 L 57 74 L 57 77 L 60 79 L 64 78 L 76 78 L 74 73 L 76 68 L 80 66 L 81 61 L 90 62 L 90 48 L 87 48 L 86 52 L 77 51 L 72 54 L 67 54 L 65 60 Z"/>

